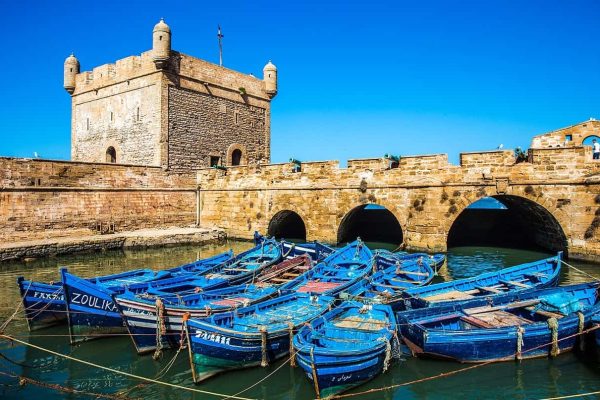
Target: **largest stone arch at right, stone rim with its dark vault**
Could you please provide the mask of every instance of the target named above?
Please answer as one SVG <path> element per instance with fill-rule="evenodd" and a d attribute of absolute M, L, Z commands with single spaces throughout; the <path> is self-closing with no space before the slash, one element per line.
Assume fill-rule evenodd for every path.
<path fill-rule="evenodd" d="M 447 246 L 494 245 L 568 251 L 568 227 L 564 213 L 548 198 L 535 196 L 532 187 L 524 193 L 468 196 L 461 199 L 454 218 L 446 221 Z M 527 191 L 532 191 L 528 195 Z M 474 210 L 468 206 L 492 197 L 506 210 Z M 458 204 L 458 203 L 457 203 Z"/>

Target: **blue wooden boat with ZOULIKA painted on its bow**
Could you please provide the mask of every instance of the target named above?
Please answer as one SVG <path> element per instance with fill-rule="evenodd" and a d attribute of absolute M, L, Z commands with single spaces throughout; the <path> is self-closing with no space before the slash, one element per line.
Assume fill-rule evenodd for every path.
<path fill-rule="evenodd" d="M 236 257 L 212 266 L 201 274 L 183 274 L 164 282 L 115 282 L 98 284 L 86 281 L 62 270 L 62 283 L 67 303 L 69 336 L 71 343 L 126 333 L 121 314 L 113 296 L 126 289 L 141 294 L 159 290 L 163 294 L 188 294 L 190 290 L 202 291 L 250 281 L 265 267 L 281 258 L 276 242 L 268 241 L 255 246 Z M 85 300 L 85 301 L 83 301 Z"/>

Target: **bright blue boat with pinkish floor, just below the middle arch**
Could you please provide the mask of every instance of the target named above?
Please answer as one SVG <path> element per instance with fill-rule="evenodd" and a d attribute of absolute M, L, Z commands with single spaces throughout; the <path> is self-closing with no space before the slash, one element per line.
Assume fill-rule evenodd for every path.
<path fill-rule="evenodd" d="M 308 273 L 283 285 L 282 290 L 335 296 L 342 291 L 354 294 L 361 280 L 371 272 L 373 253 L 355 240 L 330 254 Z"/>

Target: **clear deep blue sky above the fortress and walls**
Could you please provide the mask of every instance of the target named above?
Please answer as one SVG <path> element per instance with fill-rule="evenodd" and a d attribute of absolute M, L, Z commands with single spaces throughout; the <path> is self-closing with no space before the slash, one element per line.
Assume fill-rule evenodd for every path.
<path fill-rule="evenodd" d="M 262 76 L 272 161 L 527 147 L 600 118 L 600 1 L 2 1 L 0 155 L 68 159 L 63 61 L 82 70 L 173 48 Z"/>

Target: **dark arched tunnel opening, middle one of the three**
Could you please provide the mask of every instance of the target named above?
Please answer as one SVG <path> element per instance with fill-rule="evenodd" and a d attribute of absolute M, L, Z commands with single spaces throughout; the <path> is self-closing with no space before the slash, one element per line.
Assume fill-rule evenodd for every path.
<path fill-rule="evenodd" d="M 402 244 L 402 227 L 390 210 L 377 204 L 355 207 L 344 216 L 338 229 L 338 244 L 360 237 L 365 242 Z"/>

